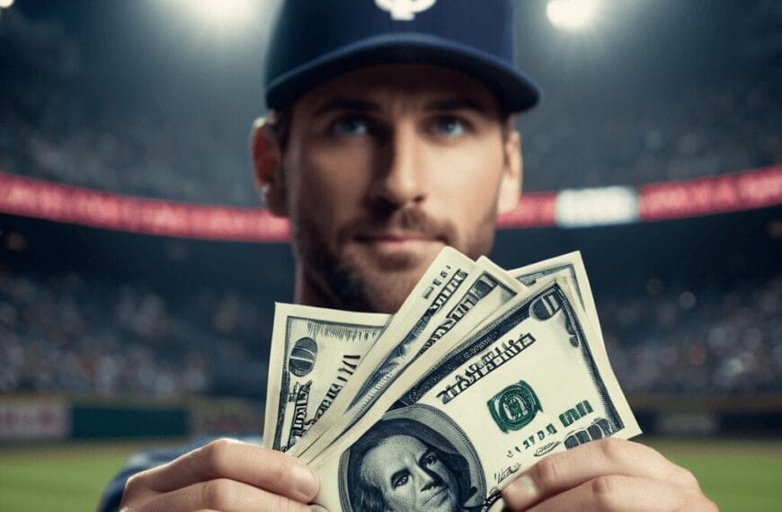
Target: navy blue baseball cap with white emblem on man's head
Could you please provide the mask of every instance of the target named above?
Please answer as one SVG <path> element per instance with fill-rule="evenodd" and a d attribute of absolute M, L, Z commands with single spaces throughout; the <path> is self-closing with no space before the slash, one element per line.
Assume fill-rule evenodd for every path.
<path fill-rule="evenodd" d="M 511 0 L 283 0 L 266 103 L 284 109 L 338 75 L 401 63 L 474 76 L 506 111 L 529 109 L 540 96 L 515 66 Z"/>

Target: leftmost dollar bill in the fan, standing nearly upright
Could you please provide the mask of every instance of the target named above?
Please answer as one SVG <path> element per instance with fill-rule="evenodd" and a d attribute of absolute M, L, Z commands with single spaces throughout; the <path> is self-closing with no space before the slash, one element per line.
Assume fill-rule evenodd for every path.
<path fill-rule="evenodd" d="M 287 451 L 324 414 L 391 316 L 277 304 L 263 445 Z"/>

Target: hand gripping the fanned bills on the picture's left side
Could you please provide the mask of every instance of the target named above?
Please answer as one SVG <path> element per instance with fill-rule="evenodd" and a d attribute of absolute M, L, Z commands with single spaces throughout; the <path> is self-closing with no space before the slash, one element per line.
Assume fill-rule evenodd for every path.
<path fill-rule="evenodd" d="M 131 477 L 120 508 L 304 511 L 319 486 L 315 472 L 290 455 L 219 439 Z"/>

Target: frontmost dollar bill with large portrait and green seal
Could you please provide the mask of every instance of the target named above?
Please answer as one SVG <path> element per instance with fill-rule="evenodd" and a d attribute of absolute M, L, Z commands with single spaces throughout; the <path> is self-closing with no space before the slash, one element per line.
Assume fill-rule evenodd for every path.
<path fill-rule="evenodd" d="M 502 488 L 540 457 L 639 434 L 577 302 L 567 279 L 541 281 L 457 350 L 435 346 L 408 366 L 313 461 L 321 479 L 316 504 L 499 509 Z"/>

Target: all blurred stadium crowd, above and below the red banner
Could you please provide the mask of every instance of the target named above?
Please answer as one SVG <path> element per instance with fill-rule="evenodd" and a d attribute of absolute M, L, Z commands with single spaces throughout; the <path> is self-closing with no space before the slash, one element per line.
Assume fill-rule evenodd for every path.
<path fill-rule="evenodd" d="M 17 10 L 0 17 L 0 49 L 0 172 L 143 197 L 258 204 L 244 144 L 253 112 L 226 128 L 225 119 L 94 95 L 76 40 Z M 520 120 L 526 190 L 782 163 L 782 102 L 771 72 L 645 102 L 618 92 L 611 101 L 609 109 L 575 94 Z M 626 392 L 782 392 L 782 275 L 728 289 L 652 279 L 644 293 L 597 298 Z M 270 319 L 238 293 L 164 296 L 76 273 L 0 271 L 0 393 L 185 396 L 238 385 L 260 396 L 270 335 Z M 244 376 L 225 385 L 237 374 Z"/>

